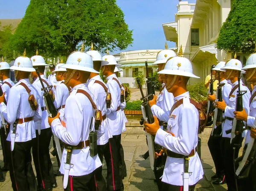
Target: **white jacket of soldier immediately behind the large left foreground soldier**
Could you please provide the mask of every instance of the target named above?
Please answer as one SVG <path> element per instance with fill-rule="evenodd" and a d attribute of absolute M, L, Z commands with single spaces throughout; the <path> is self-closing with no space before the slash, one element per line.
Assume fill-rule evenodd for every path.
<path fill-rule="evenodd" d="M 90 78 L 88 82 L 88 89 L 91 91 L 93 96 L 96 98 L 98 104 L 99 104 L 99 110 L 102 112 L 102 116 L 106 115 L 107 113 L 107 104 L 106 104 L 106 97 L 107 93 L 105 92 L 102 85 L 94 83 L 95 81 L 101 81 L 106 87 L 107 85 L 102 81 L 99 75 L 94 76 L 93 78 Z M 102 132 L 102 136 L 97 140 L 98 145 L 105 145 L 108 142 L 109 138 L 112 138 L 111 131 L 109 129 L 108 119 L 102 121 L 101 126 L 99 129 Z M 98 131 L 97 131 L 98 132 Z"/>

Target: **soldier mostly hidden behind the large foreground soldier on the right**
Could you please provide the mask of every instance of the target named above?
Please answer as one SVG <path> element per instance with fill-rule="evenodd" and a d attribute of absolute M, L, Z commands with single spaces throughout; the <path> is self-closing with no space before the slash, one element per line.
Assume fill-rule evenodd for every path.
<path fill-rule="evenodd" d="M 164 68 L 166 61 L 176 56 L 176 53 L 173 50 L 169 50 L 167 43 L 165 44 L 164 50 L 161 50 L 157 54 L 157 60 L 154 62 L 153 65 L 158 66 L 158 72 Z M 160 74 L 160 78 L 164 78 L 164 74 Z M 163 125 L 167 127 L 167 122 L 169 120 L 169 113 L 173 106 L 174 97 L 172 93 L 169 93 L 166 90 L 166 87 L 163 86 L 163 90 L 160 92 L 158 98 L 154 95 L 154 98 L 149 101 L 149 105 L 151 107 L 152 113 L 154 116 L 157 116 L 159 120 L 160 128 L 163 129 Z M 162 190 L 162 181 L 161 177 L 163 176 L 164 164 L 166 161 L 166 155 L 162 154 L 163 149 L 156 152 L 157 162 L 154 162 L 154 175 L 157 180 L 158 190 Z"/>

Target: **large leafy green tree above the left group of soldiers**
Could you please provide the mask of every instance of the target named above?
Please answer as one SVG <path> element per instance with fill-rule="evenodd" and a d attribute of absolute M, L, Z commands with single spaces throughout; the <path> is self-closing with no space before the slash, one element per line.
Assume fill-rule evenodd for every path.
<path fill-rule="evenodd" d="M 133 41 L 116 0 L 31 0 L 11 38 L 19 54 L 67 56 L 84 41 L 98 51 L 127 48 Z"/>

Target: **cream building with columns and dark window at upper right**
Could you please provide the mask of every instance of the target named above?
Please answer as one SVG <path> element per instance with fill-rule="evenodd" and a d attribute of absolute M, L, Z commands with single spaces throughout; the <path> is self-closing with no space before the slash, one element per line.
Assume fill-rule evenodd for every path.
<path fill-rule="evenodd" d="M 233 54 L 219 51 L 216 42 L 222 23 L 226 20 L 232 5 L 232 0 L 197 0 L 196 3 L 180 1 L 175 13 L 175 21 L 163 24 L 163 31 L 167 41 L 182 45 L 183 56 L 193 63 L 193 72 L 204 81 L 210 73 L 212 64 L 222 61 L 224 57 L 230 59 Z M 243 64 L 249 54 L 237 54 Z"/>

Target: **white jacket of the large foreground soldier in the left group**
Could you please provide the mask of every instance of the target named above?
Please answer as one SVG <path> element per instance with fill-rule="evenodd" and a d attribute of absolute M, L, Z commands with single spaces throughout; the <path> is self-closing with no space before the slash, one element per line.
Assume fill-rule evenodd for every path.
<path fill-rule="evenodd" d="M 54 119 L 51 127 L 52 132 L 64 143 L 69 145 L 78 145 L 79 142 L 89 139 L 90 122 L 93 117 L 91 130 L 94 131 L 94 116 L 95 110 L 92 108 L 92 104 L 89 99 L 82 93 L 77 93 L 77 90 L 85 90 L 93 99 L 93 102 L 98 103 L 93 94 L 89 91 L 86 84 L 79 84 L 73 87 L 70 96 L 67 98 L 65 106 L 64 122 L 66 127 L 61 124 L 60 119 Z M 67 150 L 64 149 L 61 159 L 60 172 L 64 174 L 65 162 L 67 158 Z M 96 168 L 99 168 L 102 163 L 99 156 L 90 156 L 90 149 L 84 147 L 83 149 L 77 149 L 72 151 L 71 164 L 73 167 L 70 169 L 70 176 L 82 176 L 92 173 Z"/>

